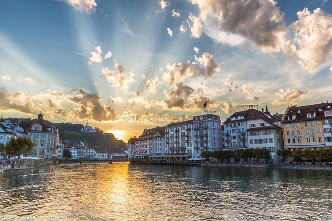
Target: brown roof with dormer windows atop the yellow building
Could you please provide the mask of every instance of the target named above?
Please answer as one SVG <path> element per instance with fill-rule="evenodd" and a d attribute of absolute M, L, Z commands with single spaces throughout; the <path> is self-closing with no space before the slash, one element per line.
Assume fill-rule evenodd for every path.
<path fill-rule="evenodd" d="M 328 106 L 330 106 L 330 108 Z M 288 120 L 288 118 L 285 117 L 282 123 L 331 118 L 331 116 L 325 116 L 324 111 L 332 110 L 332 103 L 330 102 L 305 106 L 291 106 L 288 107 L 287 110 L 288 111 L 284 114 L 285 116 L 295 115 L 296 117 L 294 120 Z M 308 118 L 307 113 L 315 113 L 315 117 Z"/>

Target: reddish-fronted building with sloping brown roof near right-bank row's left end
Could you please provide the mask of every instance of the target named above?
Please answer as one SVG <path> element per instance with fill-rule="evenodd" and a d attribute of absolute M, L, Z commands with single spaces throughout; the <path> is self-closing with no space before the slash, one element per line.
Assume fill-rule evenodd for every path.
<path fill-rule="evenodd" d="M 157 132 L 158 127 L 144 129 L 143 133 L 135 141 L 134 158 L 148 158 L 152 153 L 152 138 Z"/>

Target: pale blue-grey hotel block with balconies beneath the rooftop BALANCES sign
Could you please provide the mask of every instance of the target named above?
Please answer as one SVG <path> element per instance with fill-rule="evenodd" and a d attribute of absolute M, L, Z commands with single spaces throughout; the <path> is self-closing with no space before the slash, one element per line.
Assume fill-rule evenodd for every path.
<path fill-rule="evenodd" d="M 193 117 L 193 157 L 197 158 L 203 151 L 222 149 L 220 116 L 204 114 Z"/>

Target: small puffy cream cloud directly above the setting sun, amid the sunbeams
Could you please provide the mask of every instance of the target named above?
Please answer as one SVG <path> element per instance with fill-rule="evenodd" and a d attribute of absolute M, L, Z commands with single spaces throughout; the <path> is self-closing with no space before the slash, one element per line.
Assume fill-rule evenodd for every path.
<path fill-rule="evenodd" d="M 110 70 L 108 67 L 103 67 L 103 74 L 100 75 L 100 77 L 105 77 L 111 83 L 112 87 L 126 89 L 128 83 L 134 82 L 134 73 L 128 72 L 125 74 L 123 66 L 118 63 L 115 63 L 115 68 L 117 71 Z"/>

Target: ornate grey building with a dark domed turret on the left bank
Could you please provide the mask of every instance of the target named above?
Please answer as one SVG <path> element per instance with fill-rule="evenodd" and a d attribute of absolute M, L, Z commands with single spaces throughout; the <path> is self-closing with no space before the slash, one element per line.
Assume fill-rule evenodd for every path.
<path fill-rule="evenodd" d="M 37 119 L 21 120 L 19 126 L 27 133 L 26 137 L 34 143 L 31 157 L 44 158 L 46 160 L 56 157 L 56 145 L 59 143 L 58 130 L 54 125 L 48 125 L 42 111 Z"/>

